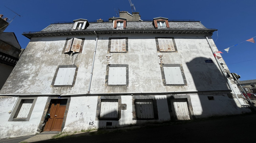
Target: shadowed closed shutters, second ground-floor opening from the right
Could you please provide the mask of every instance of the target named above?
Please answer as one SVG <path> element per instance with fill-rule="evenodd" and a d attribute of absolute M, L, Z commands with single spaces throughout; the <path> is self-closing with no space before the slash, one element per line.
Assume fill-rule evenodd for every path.
<path fill-rule="evenodd" d="M 137 118 L 154 118 L 152 100 L 136 100 L 135 105 Z"/>

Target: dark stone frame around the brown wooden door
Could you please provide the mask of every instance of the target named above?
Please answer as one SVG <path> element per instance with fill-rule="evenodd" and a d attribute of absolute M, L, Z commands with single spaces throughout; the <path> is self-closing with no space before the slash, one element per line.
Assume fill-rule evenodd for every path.
<path fill-rule="evenodd" d="M 66 119 L 67 119 L 67 114 L 68 114 L 68 110 L 69 110 L 69 105 L 70 105 L 70 100 L 71 100 L 70 96 L 68 96 L 68 97 L 61 97 L 61 98 L 58 98 L 58 97 L 48 97 L 48 99 L 46 101 L 46 104 L 45 104 L 43 115 L 41 117 L 41 121 L 40 121 L 39 126 L 38 126 L 38 130 L 37 131 L 39 131 L 39 132 L 43 132 L 44 131 L 44 127 L 45 127 L 46 122 L 47 122 L 45 120 L 45 116 L 51 110 L 50 102 L 51 102 L 52 99 L 68 99 L 67 105 L 66 105 L 65 114 L 64 114 L 64 118 L 63 118 L 63 122 L 62 122 L 62 125 L 61 125 L 61 131 L 65 127 L 65 123 L 66 123 Z"/>

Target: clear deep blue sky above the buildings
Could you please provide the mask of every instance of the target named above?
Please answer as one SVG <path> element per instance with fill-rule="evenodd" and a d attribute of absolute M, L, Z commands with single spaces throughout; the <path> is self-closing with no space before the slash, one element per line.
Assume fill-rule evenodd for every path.
<path fill-rule="evenodd" d="M 240 80 L 256 79 L 256 43 L 243 42 L 256 36 L 256 0 L 132 0 L 132 3 L 142 20 L 192 19 L 207 28 L 218 29 L 212 38 L 219 50 L 238 44 L 228 53 L 222 51 L 230 72 L 241 75 Z M 14 18 L 15 13 L 5 6 L 22 17 Z M 128 0 L 9 0 L 1 1 L 0 14 L 14 18 L 4 32 L 14 32 L 20 46 L 26 48 L 29 39 L 23 32 L 41 31 L 51 23 L 79 18 L 108 20 L 116 17 L 118 8 L 131 13 Z"/>

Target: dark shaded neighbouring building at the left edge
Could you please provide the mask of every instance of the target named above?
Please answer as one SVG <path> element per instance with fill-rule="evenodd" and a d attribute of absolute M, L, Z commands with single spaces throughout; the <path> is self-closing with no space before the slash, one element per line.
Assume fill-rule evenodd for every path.
<path fill-rule="evenodd" d="M 20 47 L 13 32 L 3 32 L 9 25 L 7 19 L 3 18 L 2 14 L 0 15 L 0 90 L 24 50 Z"/>

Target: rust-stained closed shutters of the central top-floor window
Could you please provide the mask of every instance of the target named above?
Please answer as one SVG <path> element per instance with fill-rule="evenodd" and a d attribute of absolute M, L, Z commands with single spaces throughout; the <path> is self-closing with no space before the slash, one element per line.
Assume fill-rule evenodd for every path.
<path fill-rule="evenodd" d="M 110 52 L 126 52 L 126 39 L 111 39 Z"/>

